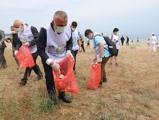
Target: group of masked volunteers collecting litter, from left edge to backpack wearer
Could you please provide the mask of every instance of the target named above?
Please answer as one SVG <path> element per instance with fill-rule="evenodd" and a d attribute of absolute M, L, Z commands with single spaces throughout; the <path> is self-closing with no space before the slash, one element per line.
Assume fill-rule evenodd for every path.
<path fill-rule="evenodd" d="M 35 26 L 25 24 L 21 20 L 15 20 L 11 27 L 12 31 L 12 50 L 13 56 L 16 60 L 17 65 L 19 64 L 16 56 L 21 46 L 27 46 L 33 57 L 35 65 L 33 67 L 27 67 L 24 72 L 24 76 L 20 80 L 20 86 L 27 84 L 28 78 L 33 70 L 37 77 L 35 80 L 43 78 L 43 74 L 40 70 L 39 65 L 36 63 L 37 57 L 41 57 L 43 69 L 46 79 L 46 88 L 50 100 L 56 103 L 57 101 L 57 90 L 54 82 L 55 76 L 54 71 L 61 72 L 59 62 L 65 57 L 71 56 L 74 61 L 74 72 L 76 71 L 76 56 L 79 51 L 85 52 L 84 40 L 81 33 L 77 30 L 78 23 L 73 21 L 71 25 L 68 25 L 68 16 L 64 11 L 56 11 L 54 13 L 52 21 L 42 26 L 40 32 L 38 32 Z M 4 35 L 3 31 L 0 31 Z M 107 63 L 110 59 L 110 63 L 115 60 L 115 64 L 118 65 L 118 53 L 120 49 L 120 41 L 118 36 L 119 29 L 114 28 L 109 41 L 105 40 L 105 37 L 100 33 L 95 33 L 91 29 L 85 30 L 85 37 L 94 43 L 95 57 L 94 63 L 101 64 L 101 81 L 107 82 Z M 1 40 L 4 36 L 0 36 Z M 112 41 L 113 46 L 109 45 Z M 6 61 L 4 58 L 4 49 L 6 45 L 4 41 L 0 44 L 0 67 L 6 67 Z M 112 54 L 111 47 L 116 48 L 116 52 Z M 64 91 L 58 91 L 58 98 L 65 103 L 71 103 L 70 98 L 65 94 Z"/>

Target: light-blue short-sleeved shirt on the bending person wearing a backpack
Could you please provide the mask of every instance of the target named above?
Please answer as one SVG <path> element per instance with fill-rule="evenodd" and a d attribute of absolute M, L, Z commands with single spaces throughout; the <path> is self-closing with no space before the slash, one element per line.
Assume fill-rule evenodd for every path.
<path fill-rule="evenodd" d="M 106 41 L 104 40 L 102 35 L 96 33 L 95 37 L 94 37 L 94 48 L 96 50 L 96 55 L 97 56 L 99 56 L 99 54 L 100 54 L 100 49 L 99 49 L 99 44 L 100 43 L 104 44 L 104 53 L 103 53 L 102 57 L 109 57 L 110 52 L 108 50 L 108 45 L 106 44 Z"/>

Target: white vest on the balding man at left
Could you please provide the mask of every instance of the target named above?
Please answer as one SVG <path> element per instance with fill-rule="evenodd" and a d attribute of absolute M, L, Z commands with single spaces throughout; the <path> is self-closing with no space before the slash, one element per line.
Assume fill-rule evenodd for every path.
<path fill-rule="evenodd" d="M 25 26 L 24 31 L 18 33 L 18 37 L 22 43 L 34 40 L 34 36 L 31 31 L 31 26 Z M 29 50 L 31 53 L 35 53 L 37 51 L 37 45 L 29 47 Z"/>

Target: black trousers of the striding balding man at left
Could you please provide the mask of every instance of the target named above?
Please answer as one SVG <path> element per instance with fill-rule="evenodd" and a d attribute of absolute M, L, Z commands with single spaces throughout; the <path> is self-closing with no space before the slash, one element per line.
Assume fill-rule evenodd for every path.
<path fill-rule="evenodd" d="M 38 57 L 38 52 L 33 53 L 32 56 L 33 56 L 33 59 L 34 59 L 34 62 L 35 62 L 35 66 L 32 67 L 32 68 L 29 68 L 29 67 L 28 67 L 28 68 L 25 69 L 25 73 L 24 73 L 23 80 L 28 80 L 28 77 L 30 76 L 32 70 L 34 70 L 34 72 L 35 72 L 38 76 L 42 76 L 42 72 L 41 72 L 39 66 L 36 64 L 36 59 L 37 59 L 37 57 Z"/>

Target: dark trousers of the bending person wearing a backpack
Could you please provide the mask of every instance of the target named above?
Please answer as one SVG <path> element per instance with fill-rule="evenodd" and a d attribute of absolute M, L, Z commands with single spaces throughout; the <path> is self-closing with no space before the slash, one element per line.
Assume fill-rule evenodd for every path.
<path fill-rule="evenodd" d="M 102 84 L 103 81 L 107 80 L 106 78 L 106 72 L 105 72 L 105 65 L 108 63 L 109 57 L 104 57 L 101 62 L 101 82 Z"/>

